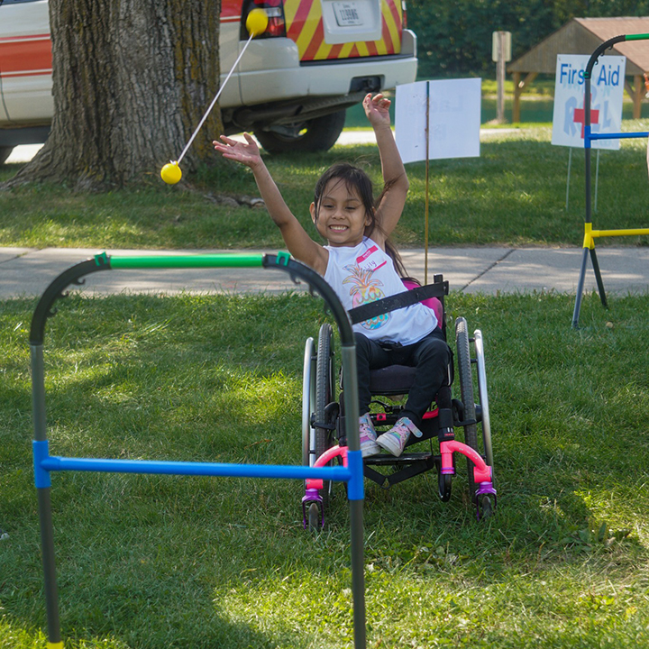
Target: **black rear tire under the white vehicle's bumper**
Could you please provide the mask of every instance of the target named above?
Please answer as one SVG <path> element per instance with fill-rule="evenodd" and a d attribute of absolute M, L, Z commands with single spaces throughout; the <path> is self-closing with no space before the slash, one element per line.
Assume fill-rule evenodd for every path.
<path fill-rule="evenodd" d="M 282 127 L 281 132 L 255 131 L 255 137 L 269 153 L 329 151 L 343 132 L 346 111 L 326 114 L 302 123 Z"/>

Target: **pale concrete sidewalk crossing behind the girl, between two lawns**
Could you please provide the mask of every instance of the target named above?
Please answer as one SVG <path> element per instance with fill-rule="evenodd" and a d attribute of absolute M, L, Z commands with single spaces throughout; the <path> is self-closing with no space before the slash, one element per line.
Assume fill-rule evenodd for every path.
<path fill-rule="evenodd" d="M 63 270 L 98 250 L 72 248 L 0 248 L 0 298 L 40 296 Z M 127 251 L 114 255 L 197 254 L 266 251 Z M 597 251 L 607 293 L 649 292 L 649 248 L 600 248 Z M 423 250 L 402 250 L 408 272 L 424 279 Z M 574 294 L 580 275 L 581 248 L 433 248 L 428 251 L 428 279 L 442 272 L 452 290 L 465 293 L 516 293 L 556 290 Z M 266 269 L 111 270 L 88 275 L 79 290 L 89 295 L 187 292 L 277 293 L 304 290 L 285 273 Z M 588 261 L 585 289 L 596 290 Z"/>

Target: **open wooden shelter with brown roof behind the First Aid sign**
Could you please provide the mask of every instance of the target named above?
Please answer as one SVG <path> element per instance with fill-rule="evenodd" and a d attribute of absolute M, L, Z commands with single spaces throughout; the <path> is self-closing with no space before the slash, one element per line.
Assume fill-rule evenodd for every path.
<path fill-rule="evenodd" d="M 514 78 L 512 120 L 520 122 L 520 96 L 538 74 L 555 74 L 557 54 L 592 54 L 604 41 L 621 34 L 649 33 L 649 16 L 630 18 L 573 18 L 522 57 L 507 66 Z M 617 43 L 605 52 L 626 56 L 625 88 L 640 117 L 644 72 L 649 71 L 649 41 Z M 632 80 L 631 80 L 632 79 Z"/>

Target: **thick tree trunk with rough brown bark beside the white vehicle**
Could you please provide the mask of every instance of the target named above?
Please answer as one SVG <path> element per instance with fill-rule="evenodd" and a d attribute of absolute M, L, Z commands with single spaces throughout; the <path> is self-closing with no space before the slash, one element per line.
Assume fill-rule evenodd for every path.
<path fill-rule="evenodd" d="M 216 0 L 50 0 L 54 117 L 41 151 L 9 181 L 78 190 L 151 178 L 178 156 L 219 85 Z M 218 106 L 182 162 L 215 160 Z"/>

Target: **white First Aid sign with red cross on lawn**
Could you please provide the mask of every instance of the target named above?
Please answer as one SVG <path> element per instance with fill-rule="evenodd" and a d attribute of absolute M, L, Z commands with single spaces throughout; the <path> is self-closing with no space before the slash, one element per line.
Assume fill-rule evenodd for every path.
<path fill-rule="evenodd" d="M 584 72 L 588 54 L 558 54 L 553 137 L 559 146 L 583 149 Z M 626 57 L 600 57 L 590 77 L 590 133 L 620 133 Z M 619 140 L 593 140 L 593 149 L 619 149 Z"/>

